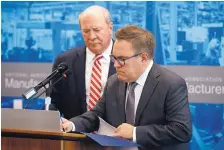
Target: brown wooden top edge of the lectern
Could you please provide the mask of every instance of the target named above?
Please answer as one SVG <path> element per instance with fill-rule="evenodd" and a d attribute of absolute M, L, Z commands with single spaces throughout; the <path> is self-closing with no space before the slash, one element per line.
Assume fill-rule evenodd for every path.
<path fill-rule="evenodd" d="M 88 138 L 84 134 L 79 133 L 63 133 L 52 131 L 34 131 L 23 129 L 1 129 L 2 137 L 27 137 L 27 138 L 41 138 L 41 139 L 55 139 L 55 140 L 87 140 Z"/>

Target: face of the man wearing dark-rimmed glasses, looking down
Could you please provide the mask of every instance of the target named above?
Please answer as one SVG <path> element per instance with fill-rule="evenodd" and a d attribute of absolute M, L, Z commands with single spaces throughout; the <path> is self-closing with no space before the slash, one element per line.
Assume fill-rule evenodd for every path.
<path fill-rule="evenodd" d="M 130 42 L 124 40 L 116 40 L 113 47 L 113 55 L 116 58 L 128 58 L 134 56 L 136 53 L 132 48 Z M 121 65 L 118 59 L 114 62 L 114 67 L 117 70 L 118 79 L 124 82 L 133 82 L 143 72 L 143 64 L 141 54 L 125 60 L 125 64 Z"/>

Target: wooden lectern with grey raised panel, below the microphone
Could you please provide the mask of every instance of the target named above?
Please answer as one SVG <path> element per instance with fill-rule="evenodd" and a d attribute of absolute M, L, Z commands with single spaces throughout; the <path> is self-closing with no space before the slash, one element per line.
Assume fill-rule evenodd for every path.
<path fill-rule="evenodd" d="M 118 150 L 102 147 L 83 134 L 60 131 L 55 111 L 1 109 L 2 150 Z"/>

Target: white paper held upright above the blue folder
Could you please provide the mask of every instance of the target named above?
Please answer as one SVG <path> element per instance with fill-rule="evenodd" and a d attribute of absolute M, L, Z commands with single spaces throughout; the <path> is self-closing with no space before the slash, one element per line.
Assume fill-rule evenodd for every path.
<path fill-rule="evenodd" d="M 103 120 L 101 117 L 98 117 L 100 120 L 100 126 L 97 134 L 101 135 L 107 135 L 107 136 L 113 136 L 115 133 L 115 127 L 107 123 L 105 120 Z M 121 147 L 118 148 L 119 150 L 138 150 L 137 147 Z"/>

